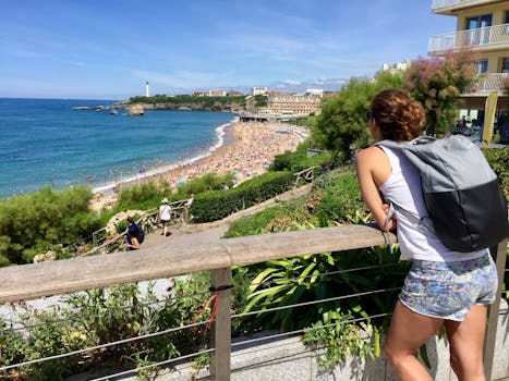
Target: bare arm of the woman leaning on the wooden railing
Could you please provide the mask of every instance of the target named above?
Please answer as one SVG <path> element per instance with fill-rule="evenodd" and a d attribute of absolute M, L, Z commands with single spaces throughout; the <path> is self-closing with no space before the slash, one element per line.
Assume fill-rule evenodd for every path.
<path fill-rule="evenodd" d="M 388 205 L 384 202 L 379 187 L 389 179 L 392 170 L 389 160 L 378 147 L 363 149 L 355 159 L 361 195 L 380 229 L 384 229 Z M 387 226 L 396 229 L 396 221 L 390 220 Z"/>

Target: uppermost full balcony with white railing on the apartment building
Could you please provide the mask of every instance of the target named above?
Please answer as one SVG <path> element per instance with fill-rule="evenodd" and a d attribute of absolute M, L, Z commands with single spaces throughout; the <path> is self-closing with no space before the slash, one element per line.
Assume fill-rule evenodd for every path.
<path fill-rule="evenodd" d="M 436 35 L 429 39 L 427 51 L 433 56 L 446 51 L 509 49 L 509 24 Z"/>

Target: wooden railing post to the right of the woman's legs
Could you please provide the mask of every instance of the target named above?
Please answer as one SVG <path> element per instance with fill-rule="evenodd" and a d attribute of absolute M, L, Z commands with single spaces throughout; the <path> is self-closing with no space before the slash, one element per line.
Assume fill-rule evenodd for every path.
<path fill-rule="evenodd" d="M 506 269 L 507 238 L 498 244 L 496 250 L 492 249 L 495 263 L 497 265 L 498 290 L 495 302 L 488 308 L 488 325 L 484 339 L 484 372 L 486 380 L 492 380 L 493 356 L 495 355 L 495 343 L 497 339 L 498 312 L 500 310 L 500 296 Z"/>

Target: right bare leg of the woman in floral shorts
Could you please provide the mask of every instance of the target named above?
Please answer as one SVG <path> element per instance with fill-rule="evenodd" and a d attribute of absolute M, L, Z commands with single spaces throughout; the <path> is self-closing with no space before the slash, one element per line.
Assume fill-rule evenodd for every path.
<path fill-rule="evenodd" d="M 484 381 L 483 346 L 486 306 L 474 305 L 463 321 L 445 322 L 450 362 L 460 381 Z"/>

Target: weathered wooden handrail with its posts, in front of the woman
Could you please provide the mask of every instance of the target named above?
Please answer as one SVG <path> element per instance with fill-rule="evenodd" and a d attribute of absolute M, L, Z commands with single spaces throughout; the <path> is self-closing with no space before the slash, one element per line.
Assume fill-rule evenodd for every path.
<path fill-rule="evenodd" d="M 396 239 L 396 237 L 392 237 Z M 380 231 L 365 225 L 344 225 L 316 230 L 264 234 L 215 242 L 174 243 L 152 249 L 112 253 L 0 269 L 0 304 L 28 300 L 88 288 L 119 285 L 210 270 L 211 285 L 219 290 L 220 302 L 213 328 L 211 374 L 214 380 L 230 379 L 231 267 L 292 258 L 327 251 L 340 251 L 385 244 Z M 496 250 L 498 276 L 502 279 L 507 239 Z M 223 286 L 223 287 L 221 287 Z M 495 348 L 497 299 L 490 307 L 485 342 L 485 367 L 490 379 Z"/>

